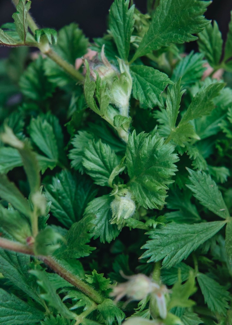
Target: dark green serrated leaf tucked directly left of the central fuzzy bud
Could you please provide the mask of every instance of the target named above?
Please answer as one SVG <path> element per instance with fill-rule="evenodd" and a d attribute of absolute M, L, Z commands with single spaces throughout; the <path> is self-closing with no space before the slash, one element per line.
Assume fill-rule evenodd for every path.
<path fill-rule="evenodd" d="M 103 243 L 110 242 L 120 233 L 117 225 L 111 225 L 109 222 L 112 218 L 110 209 L 112 200 L 110 195 L 103 195 L 89 202 L 84 212 L 84 214 L 95 214 L 96 218 L 93 220 L 94 227 L 92 228 L 94 239 L 100 237 L 100 241 Z"/>

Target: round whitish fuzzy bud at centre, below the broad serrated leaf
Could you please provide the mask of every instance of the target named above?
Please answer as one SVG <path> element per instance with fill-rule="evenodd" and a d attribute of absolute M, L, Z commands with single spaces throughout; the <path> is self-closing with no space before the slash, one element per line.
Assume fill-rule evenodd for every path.
<path fill-rule="evenodd" d="M 123 219 L 131 217 L 135 213 L 135 202 L 131 199 L 131 193 L 128 192 L 124 196 L 115 195 L 115 199 L 111 202 L 112 219 L 111 224 L 123 225 Z"/>

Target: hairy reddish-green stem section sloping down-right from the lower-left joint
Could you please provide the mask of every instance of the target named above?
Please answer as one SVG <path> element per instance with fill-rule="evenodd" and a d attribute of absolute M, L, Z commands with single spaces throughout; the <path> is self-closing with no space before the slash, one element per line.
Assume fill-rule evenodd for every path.
<path fill-rule="evenodd" d="M 55 271 L 61 278 L 65 279 L 71 283 L 74 287 L 78 288 L 86 296 L 91 298 L 96 304 L 101 304 L 104 301 L 104 297 L 100 295 L 95 289 L 90 287 L 88 284 L 84 283 L 82 280 L 78 279 L 75 275 L 66 270 L 57 261 L 55 261 L 50 256 L 38 256 L 47 266 L 49 266 L 53 271 Z"/>

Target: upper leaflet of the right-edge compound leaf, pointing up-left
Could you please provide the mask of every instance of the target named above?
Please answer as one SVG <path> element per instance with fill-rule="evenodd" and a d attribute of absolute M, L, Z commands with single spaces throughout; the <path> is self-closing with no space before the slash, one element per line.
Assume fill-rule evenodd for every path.
<path fill-rule="evenodd" d="M 211 177 L 206 175 L 204 172 L 194 172 L 188 168 L 187 171 L 189 172 L 189 179 L 192 185 L 186 186 L 191 189 L 195 198 L 219 217 L 224 219 L 228 218 L 229 211 L 223 200 L 222 193 L 219 191 L 216 183 L 211 179 Z"/>

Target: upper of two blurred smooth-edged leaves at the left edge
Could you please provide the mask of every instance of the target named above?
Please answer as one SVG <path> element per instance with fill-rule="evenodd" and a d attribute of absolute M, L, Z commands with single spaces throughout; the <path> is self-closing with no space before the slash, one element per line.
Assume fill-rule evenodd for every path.
<path fill-rule="evenodd" d="M 29 202 L 24 198 L 14 183 L 6 175 L 0 174 L 0 197 L 11 203 L 22 214 L 31 217 L 32 211 Z"/>

